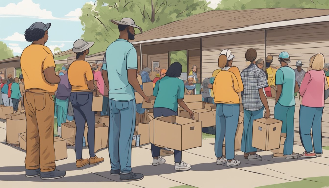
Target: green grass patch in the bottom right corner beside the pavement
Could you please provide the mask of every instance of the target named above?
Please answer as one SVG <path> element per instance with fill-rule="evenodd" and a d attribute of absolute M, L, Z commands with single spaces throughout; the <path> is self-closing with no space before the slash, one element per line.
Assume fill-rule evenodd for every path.
<path fill-rule="evenodd" d="M 295 187 L 322 188 L 326 186 L 329 186 L 329 176 L 309 177 L 309 178 L 304 178 L 304 180 L 301 181 L 266 185 L 257 188 L 295 188 Z"/>

